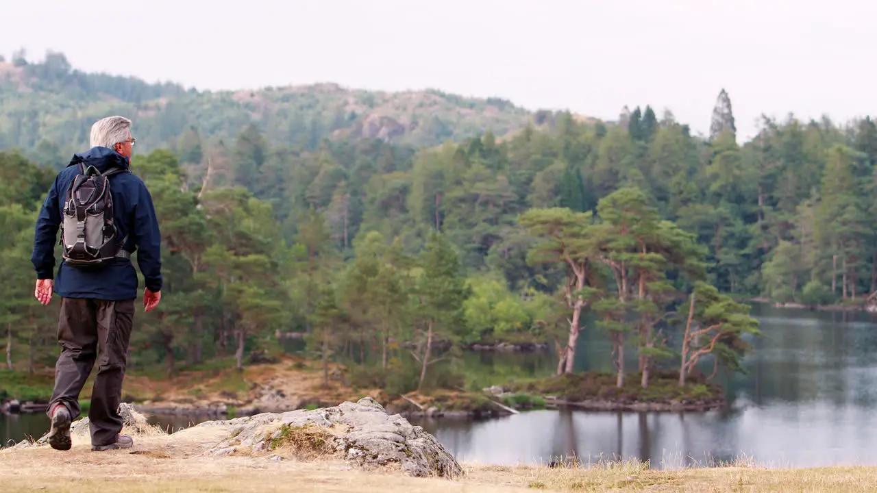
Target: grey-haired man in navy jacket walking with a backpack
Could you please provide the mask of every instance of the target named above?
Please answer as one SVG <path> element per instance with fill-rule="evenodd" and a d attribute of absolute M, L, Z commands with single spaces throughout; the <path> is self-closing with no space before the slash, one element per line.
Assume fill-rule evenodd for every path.
<path fill-rule="evenodd" d="M 134 142 L 128 118 L 109 117 L 97 121 L 91 127 L 91 148 L 74 154 L 68 168 L 55 178 L 39 211 L 31 259 L 37 272 L 34 295 L 44 305 L 52 301 L 53 291 L 61 296 L 58 321 L 61 356 L 55 366 L 54 391 L 46 411 L 52 419 L 49 444 L 57 450 L 68 450 L 71 446 L 70 422 L 80 415 L 79 394 L 95 361 L 97 375 L 89 411 L 91 448 L 103 451 L 133 445 L 131 437 L 119 434 L 122 418 L 118 405 L 138 289 L 137 271 L 130 260 L 135 250 L 146 284 L 145 310 L 153 310 L 161 297 L 159 226 L 152 196 L 143 181 L 130 172 Z M 82 206 L 83 200 L 100 195 L 82 186 L 87 176 L 97 172 L 100 175 L 93 183 L 104 186 L 90 190 L 103 192 L 109 183 L 111 193 L 107 198 L 111 199 L 112 214 L 105 216 L 111 218 L 87 215 L 86 212 L 93 214 L 96 208 L 87 210 Z M 71 188 L 71 184 L 75 187 Z M 79 202 L 71 198 L 72 190 Z M 68 211 L 66 218 L 65 210 Z M 100 223 L 94 229 L 98 220 L 106 219 L 110 219 L 109 228 Z M 54 246 L 59 227 L 61 245 L 67 256 L 61 261 L 57 282 L 53 285 Z M 107 233 L 107 229 L 114 233 Z M 108 234 L 110 239 L 107 239 Z M 87 255 L 71 253 L 74 247 L 102 236 L 109 248 L 106 251 L 111 254 L 104 255 L 105 249 L 101 248 L 97 255 L 101 261 L 95 266 L 83 267 L 81 264 L 89 263 L 82 262 Z M 89 252 L 93 253 L 94 249 Z"/>

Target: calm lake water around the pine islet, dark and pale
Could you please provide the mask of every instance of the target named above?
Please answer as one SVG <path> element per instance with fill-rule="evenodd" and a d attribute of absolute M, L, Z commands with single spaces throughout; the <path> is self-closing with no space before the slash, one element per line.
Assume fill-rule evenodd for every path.
<path fill-rule="evenodd" d="M 517 464 L 578 457 L 651 461 L 652 468 L 747 458 L 767 466 L 877 464 L 877 318 L 866 313 L 755 305 L 763 337 L 752 339 L 748 375 L 719 375 L 728 403 L 698 413 L 527 411 L 484 421 L 412 420 L 459 461 Z M 674 344 L 674 334 L 668 339 Z M 636 355 L 626 352 L 627 368 Z M 466 354 L 478 380 L 514 372 L 550 375 L 553 354 Z M 707 373 L 711 370 L 707 364 Z M 580 337 L 577 370 L 611 370 L 609 342 Z M 158 421 L 189 424 L 186 418 Z M 0 417 L 0 439 L 41 434 L 45 416 Z"/>

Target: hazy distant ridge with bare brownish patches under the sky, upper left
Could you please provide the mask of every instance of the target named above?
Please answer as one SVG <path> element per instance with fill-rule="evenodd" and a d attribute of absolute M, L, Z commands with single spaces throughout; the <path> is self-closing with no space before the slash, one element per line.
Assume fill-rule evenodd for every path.
<path fill-rule="evenodd" d="M 67 154 L 87 142 L 97 118 L 134 119 L 141 150 L 174 146 L 184 132 L 229 142 L 254 124 L 275 146 L 315 148 L 324 138 L 383 139 L 436 146 L 484 132 L 500 137 L 525 125 L 549 125 L 550 111 L 528 111 L 500 98 L 435 89 L 346 89 L 335 83 L 252 90 L 199 91 L 175 83 L 87 74 L 63 54 L 44 61 L 0 61 L 0 149 L 51 147 Z"/>

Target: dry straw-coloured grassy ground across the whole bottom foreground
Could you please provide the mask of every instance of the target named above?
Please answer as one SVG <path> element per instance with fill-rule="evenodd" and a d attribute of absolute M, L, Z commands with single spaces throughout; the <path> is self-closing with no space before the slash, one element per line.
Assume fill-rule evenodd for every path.
<path fill-rule="evenodd" d="M 638 462 L 591 468 L 501 467 L 464 464 L 454 480 L 412 478 L 392 471 L 363 472 L 337 461 L 271 461 L 265 457 L 199 457 L 161 438 L 139 439 L 132 450 L 93 453 L 48 448 L 0 452 L 5 492 L 181 491 L 262 492 L 752 492 L 874 491 L 877 468 L 766 469 L 749 466 L 649 470 Z"/>

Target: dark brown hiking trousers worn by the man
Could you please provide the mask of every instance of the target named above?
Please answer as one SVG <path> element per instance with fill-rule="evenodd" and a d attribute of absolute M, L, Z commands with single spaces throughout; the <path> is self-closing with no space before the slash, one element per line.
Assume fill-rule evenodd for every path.
<path fill-rule="evenodd" d="M 54 405 L 60 403 L 67 406 L 71 419 L 79 417 L 79 393 L 97 361 L 89 411 L 93 446 L 114 443 L 122 431 L 118 404 L 122 400 L 133 321 L 132 299 L 61 298 L 61 356 L 55 365 L 55 385 L 47 414 L 51 418 Z"/>

